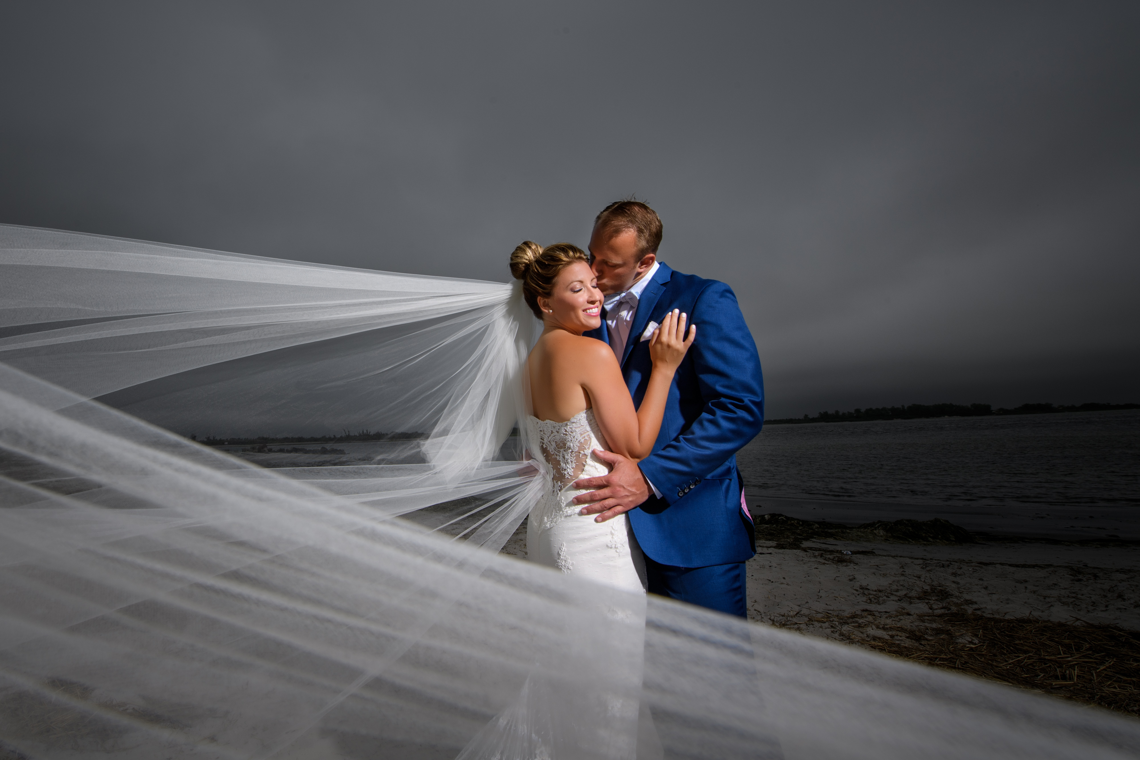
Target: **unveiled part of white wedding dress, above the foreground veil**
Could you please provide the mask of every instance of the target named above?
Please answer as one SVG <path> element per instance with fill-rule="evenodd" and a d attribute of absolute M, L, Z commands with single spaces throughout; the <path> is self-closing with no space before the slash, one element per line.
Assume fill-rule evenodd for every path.
<path fill-rule="evenodd" d="M 581 515 L 573 498 L 584 493 L 571 484 L 579 477 L 609 473 L 594 449 L 608 449 L 593 409 L 565 422 L 528 416 L 530 441 L 547 465 L 542 477 L 546 488 L 531 507 L 527 524 L 527 555 L 531 562 L 557 567 L 563 573 L 626 591 L 645 591 L 645 557 L 637 546 L 629 520 L 618 515 L 604 523 Z"/>

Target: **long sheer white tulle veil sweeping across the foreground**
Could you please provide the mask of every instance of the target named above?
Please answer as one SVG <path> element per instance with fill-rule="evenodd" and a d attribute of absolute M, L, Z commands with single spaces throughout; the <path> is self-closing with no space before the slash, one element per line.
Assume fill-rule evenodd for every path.
<path fill-rule="evenodd" d="M 540 488 L 512 286 L 0 226 L 0 757 L 649 757 L 646 708 L 666 757 L 1137 757 L 1130 719 L 496 554 Z M 361 427 L 398 456 L 184 438 Z"/>

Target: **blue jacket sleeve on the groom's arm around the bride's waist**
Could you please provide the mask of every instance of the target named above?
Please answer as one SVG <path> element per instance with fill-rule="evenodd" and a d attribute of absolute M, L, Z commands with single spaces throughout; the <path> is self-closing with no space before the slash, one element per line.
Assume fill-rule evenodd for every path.
<path fill-rule="evenodd" d="M 640 463 L 670 505 L 764 426 L 760 358 L 732 288 L 711 283 L 698 296 L 692 321 L 697 341 L 686 358 L 692 359 L 703 408 L 681 435 Z"/>

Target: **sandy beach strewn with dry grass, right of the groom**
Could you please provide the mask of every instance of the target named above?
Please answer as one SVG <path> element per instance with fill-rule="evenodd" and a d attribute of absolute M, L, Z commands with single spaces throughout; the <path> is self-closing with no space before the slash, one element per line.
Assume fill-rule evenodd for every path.
<path fill-rule="evenodd" d="M 1140 716 L 1140 546 L 757 518 L 750 618 Z"/>

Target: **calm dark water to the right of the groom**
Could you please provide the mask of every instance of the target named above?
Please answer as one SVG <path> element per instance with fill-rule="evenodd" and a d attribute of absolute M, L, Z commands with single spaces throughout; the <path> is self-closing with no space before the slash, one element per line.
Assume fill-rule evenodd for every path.
<path fill-rule="evenodd" d="M 1140 538 L 1140 410 L 772 425 L 738 461 L 758 512 Z"/>

